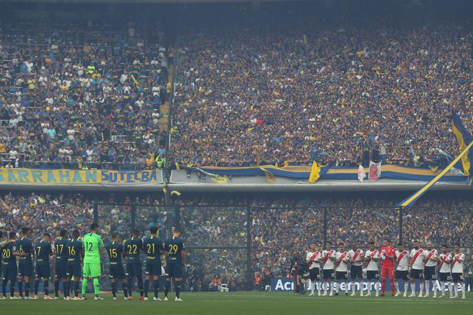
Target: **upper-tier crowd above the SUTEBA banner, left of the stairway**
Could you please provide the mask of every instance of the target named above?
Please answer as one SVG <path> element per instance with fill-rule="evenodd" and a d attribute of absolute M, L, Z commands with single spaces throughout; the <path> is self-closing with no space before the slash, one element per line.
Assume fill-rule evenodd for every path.
<path fill-rule="evenodd" d="M 144 169 L 164 155 L 159 25 L 0 25 L 1 166 Z"/>

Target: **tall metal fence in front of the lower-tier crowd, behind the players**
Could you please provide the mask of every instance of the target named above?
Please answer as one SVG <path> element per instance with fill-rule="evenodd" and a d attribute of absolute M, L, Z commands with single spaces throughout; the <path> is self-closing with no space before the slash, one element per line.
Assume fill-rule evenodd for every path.
<path fill-rule="evenodd" d="M 453 241 L 459 241 L 468 255 L 473 253 L 473 206 L 397 209 L 97 204 L 94 220 L 104 231 L 105 243 L 112 232 L 123 240 L 135 229 L 147 235 L 155 225 L 164 240 L 173 227 L 179 228 L 190 268 L 200 268 L 202 287 L 210 283 L 212 274 L 228 274 L 240 290 L 251 290 L 256 270 L 274 265 L 287 269 L 288 259 L 281 263 L 283 256 L 302 252 L 310 241 L 320 246 L 340 240 L 367 246 L 369 240 L 380 244 L 388 237 L 404 243 L 431 240 L 437 248 L 441 243 L 452 246 Z"/>

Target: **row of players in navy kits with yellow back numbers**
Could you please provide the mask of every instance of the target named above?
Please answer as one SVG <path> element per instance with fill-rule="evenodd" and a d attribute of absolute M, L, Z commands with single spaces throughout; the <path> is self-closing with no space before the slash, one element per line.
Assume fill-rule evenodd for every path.
<path fill-rule="evenodd" d="M 166 280 L 175 279 L 176 298 L 181 301 L 181 277 L 185 265 L 185 247 L 179 231 L 175 230 L 173 237 L 167 239 L 164 246 L 157 237 L 157 228 L 150 228 L 151 237 L 140 238 L 140 232 L 133 231 L 131 239 L 120 243 L 118 235 L 112 235 L 111 243 L 105 247 L 109 257 L 109 270 L 113 299 L 116 300 L 116 282 L 122 282 L 124 298 L 133 300 L 131 283 L 137 279 L 140 300 L 148 300 L 148 290 L 153 277 L 154 300 L 158 298 L 159 276 L 164 274 L 161 257 L 166 257 Z M 10 281 L 10 299 L 38 299 L 39 284 L 43 281 L 44 299 L 50 300 L 49 283 L 51 278 L 51 261 L 54 262 L 54 299 L 59 298 L 59 283 L 63 281 L 65 300 L 81 300 L 79 298 L 80 276 L 82 275 L 81 259 L 84 257 L 84 247 L 80 241 L 78 230 L 72 231 L 72 239 L 68 238 L 67 230 L 61 230 L 60 236 L 54 243 L 49 233 L 44 233 L 41 241 L 33 243 L 30 239 L 30 229 L 22 228 L 21 238 L 17 239 L 15 232 L 8 233 L 8 239 L 3 240 L 0 231 L 0 274 L 3 274 L 2 293 L 0 299 L 6 298 L 6 287 Z M 142 280 L 142 265 L 140 252 L 146 254 L 145 280 Z M 17 261 L 19 257 L 19 261 Z M 34 257 L 36 264 L 34 265 Z M 126 258 L 126 270 L 123 268 L 122 257 Z M 34 273 L 33 273 L 34 272 Z M 34 274 L 34 295 L 30 296 L 31 283 Z M 18 280 L 18 281 L 17 281 Z M 18 282 L 19 297 L 14 296 L 15 284 Z M 24 295 L 23 295 L 24 285 Z M 170 281 L 166 281 L 164 300 L 167 301 Z M 74 297 L 71 296 L 74 294 Z"/>

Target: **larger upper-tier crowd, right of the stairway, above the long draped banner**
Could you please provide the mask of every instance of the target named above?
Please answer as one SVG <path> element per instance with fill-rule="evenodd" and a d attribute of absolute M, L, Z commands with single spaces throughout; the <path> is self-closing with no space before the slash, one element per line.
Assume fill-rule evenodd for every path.
<path fill-rule="evenodd" d="M 473 129 L 472 20 L 428 13 L 190 21 L 170 154 L 219 166 L 445 164 L 457 152 L 451 109 Z"/>

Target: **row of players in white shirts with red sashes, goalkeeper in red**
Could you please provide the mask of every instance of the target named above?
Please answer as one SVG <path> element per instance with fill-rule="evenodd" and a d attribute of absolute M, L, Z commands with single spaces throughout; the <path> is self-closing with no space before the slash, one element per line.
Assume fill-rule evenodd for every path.
<path fill-rule="evenodd" d="M 402 243 L 398 243 L 395 250 L 389 246 L 389 240 L 384 239 L 383 247 L 380 250 L 375 248 L 373 241 L 369 242 L 369 249 L 364 252 L 358 248 L 357 243 L 353 243 L 351 250 L 346 250 L 345 244 L 340 242 L 338 250 L 331 248 L 330 241 L 327 242 L 325 250 L 319 250 L 316 243 L 310 243 L 309 250 L 305 255 L 305 261 L 298 263 L 294 270 L 296 276 L 296 292 L 303 292 L 306 280 L 309 281 L 311 290 L 310 296 L 314 296 L 314 291 L 318 290 L 318 296 L 338 295 L 340 284 L 345 283 L 345 294 L 348 295 L 348 279 L 351 279 L 351 296 L 355 296 L 355 281 L 360 287 L 360 296 L 371 296 L 371 287 L 374 282 L 376 296 L 382 296 L 386 278 L 391 281 L 391 294 L 399 296 L 399 280 L 404 281 L 404 294 L 407 296 L 410 282 L 411 294 L 415 296 L 416 280 L 419 282 L 419 297 L 430 296 L 430 281 L 432 281 L 433 297 L 437 297 L 437 289 L 441 296 L 445 297 L 445 284 L 450 291 L 450 298 L 458 298 L 459 286 L 462 291 L 462 298 L 465 298 L 465 283 L 463 281 L 463 260 L 465 254 L 461 252 L 460 244 L 454 244 L 453 252 L 448 251 L 448 246 L 442 245 L 441 252 L 432 248 L 432 243 L 426 243 L 426 249 L 419 247 L 419 242 L 412 243 L 412 250 L 404 249 Z M 380 262 L 382 272 L 380 283 Z M 364 285 L 362 268 L 366 264 L 367 292 L 364 295 Z M 394 272 L 394 266 L 396 270 Z M 438 269 L 438 273 L 437 273 Z M 439 287 L 437 288 L 437 279 Z M 335 280 L 335 282 L 333 282 Z M 410 281 L 409 281 L 410 280 Z M 424 285 L 425 283 L 425 285 Z M 381 284 L 381 285 L 380 285 Z M 426 294 L 423 294 L 424 287 Z M 321 294 L 321 290 L 324 291 Z M 396 293 L 395 293 L 396 292 Z"/>

